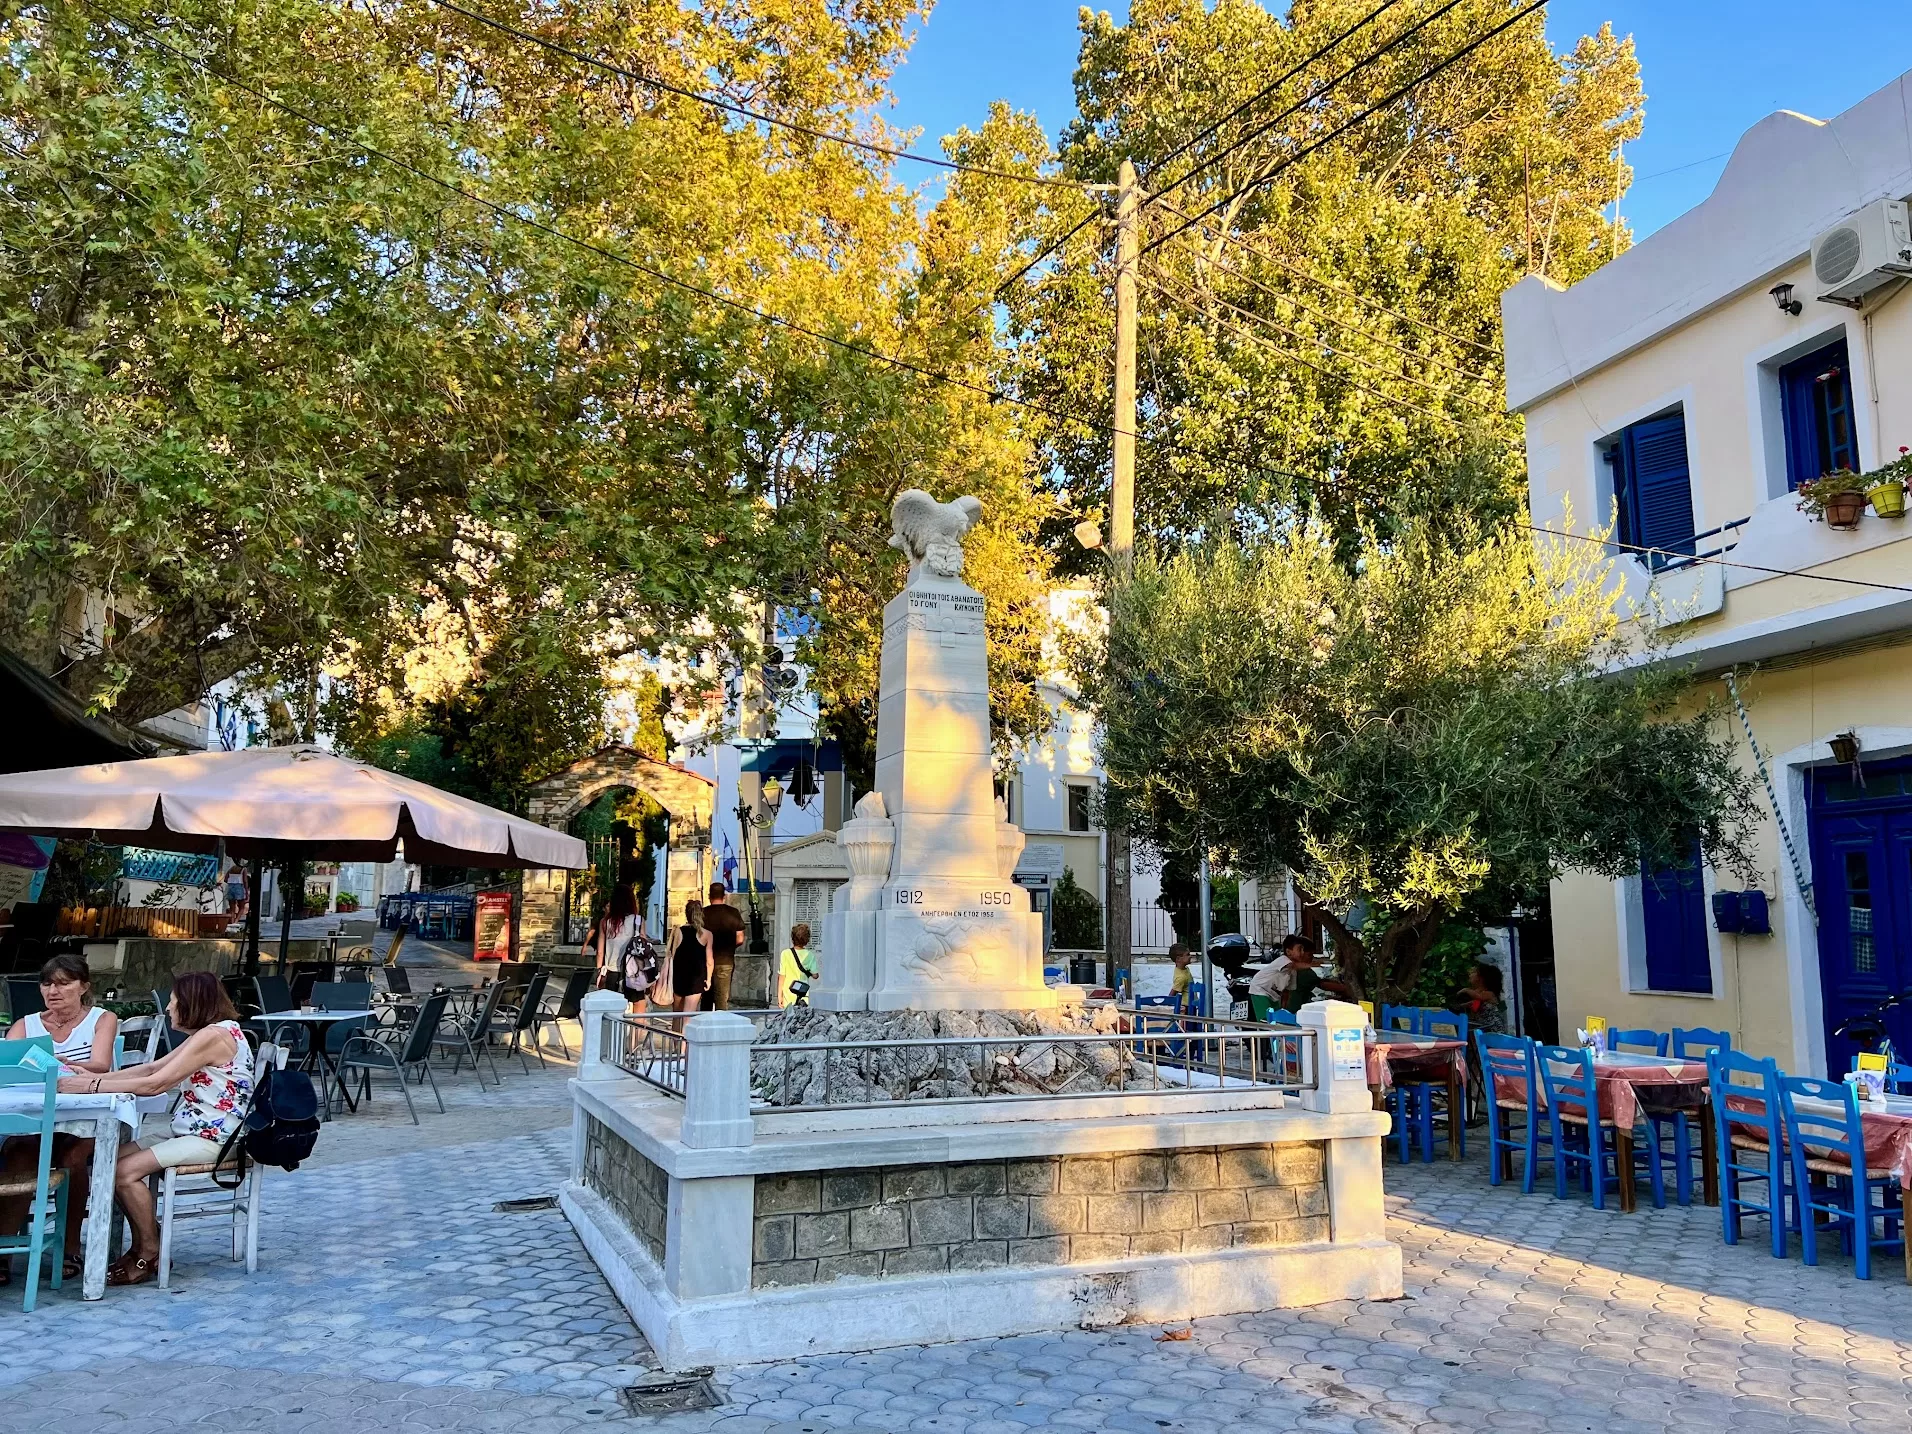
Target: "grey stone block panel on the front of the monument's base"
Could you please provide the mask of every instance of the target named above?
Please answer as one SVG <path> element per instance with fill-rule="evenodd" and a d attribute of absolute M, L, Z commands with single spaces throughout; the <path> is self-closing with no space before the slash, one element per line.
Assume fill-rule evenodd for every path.
<path fill-rule="evenodd" d="M 751 1285 L 1310 1245 L 1321 1141 L 759 1176 Z"/>

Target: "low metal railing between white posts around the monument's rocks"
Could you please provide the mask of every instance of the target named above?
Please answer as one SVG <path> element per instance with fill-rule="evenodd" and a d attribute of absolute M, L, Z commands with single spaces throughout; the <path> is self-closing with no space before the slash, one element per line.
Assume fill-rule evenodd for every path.
<path fill-rule="evenodd" d="M 763 1019 L 771 1011 L 732 1011 Z M 1319 1055 L 1306 1027 L 1119 1008 L 1124 1031 L 912 1040 L 809 1040 L 751 1048 L 759 1113 L 895 1109 L 981 1101 L 1212 1096 L 1315 1090 Z M 684 1097 L 683 1013 L 606 1017 L 604 1059 L 667 1096 Z M 885 1069 L 887 1065 L 887 1069 Z M 904 1073 L 910 1094 L 881 1097 Z M 795 1086 L 797 1075 L 803 1084 Z M 975 1092 L 977 1082 L 992 1086 Z M 950 1094 L 969 1088 L 971 1094 Z M 822 1092 L 822 1099 L 813 1099 Z M 792 1096 L 795 1094 L 795 1099 Z"/>

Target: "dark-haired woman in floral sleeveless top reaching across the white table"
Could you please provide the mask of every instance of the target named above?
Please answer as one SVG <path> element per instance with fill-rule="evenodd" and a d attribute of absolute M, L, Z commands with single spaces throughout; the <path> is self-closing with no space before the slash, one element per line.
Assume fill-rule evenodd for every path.
<path fill-rule="evenodd" d="M 130 1071 L 59 1080 L 59 1090 L 75 1096 L 159 1096 L 180 1086 L 172 1136 L 120 1149 L 113 1184 L 132 1226 L 132 1249 L 107 1266 L 109 1285 L 143 1285 L 159 1275 L 159 1220 L 147 1176 L 182 1164 L 212 1164 L 252 1103 L 252 1050 L 220 979 L 210 971 L 182 975 L 172 983 L 166 1017 L 187 1032 L 168 1055 Z"/>

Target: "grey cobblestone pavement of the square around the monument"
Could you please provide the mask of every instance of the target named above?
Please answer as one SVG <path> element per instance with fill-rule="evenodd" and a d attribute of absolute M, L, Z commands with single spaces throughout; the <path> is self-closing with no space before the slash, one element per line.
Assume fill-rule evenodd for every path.
<path fill-rule="evenodd" d="M 576 1042 L 574 1042 L 576 1046 Z M 1912 1291 L 1895 1268 L 1728 1249 L 1717 1212 L 1595 1212 L 1388 1164 L 1407 1298 L 719 1371 L 723 1405 L 637 1419 L 642 1336 L 547 1195 L 568 1069 L 445 1082 L 423 1126 L 386 1090 L 268 1184 L 260 1271 L 182 1228 L 174 1289 L 0 1294 L 0 1428 L 1541 1430 L 1746 1434 L 1912 1426 Z M 15 1421 L 25 1413 L 25 1421 Z"/>

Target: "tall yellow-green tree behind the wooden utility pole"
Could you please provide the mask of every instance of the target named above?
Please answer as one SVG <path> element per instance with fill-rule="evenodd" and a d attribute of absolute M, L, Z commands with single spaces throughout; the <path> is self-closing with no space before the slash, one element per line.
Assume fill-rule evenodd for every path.
<path fill-rule="evenodd" d="M 1126 23 L 1082 11 L 1061 172 L 1113 184 L 1134 161 L 1145 249 L 1235 197 L 1141 260 L 1140 532 L 1193 537 L 1243 497 L 1315 512 L 1342 533 L 1520 511 L 1499 298 L 1522 273 L 1572 283 L 1625 247 L 1604 206 L 1631 176 L 1619 149 L 1642 122 L 1633 42 L 1602 29 L 1556 54 L 1535 13 L 1409 101 L 1296 157 L 1509 6 L 1384 15 L 1342 57 L 1247 103 L 1369 11 L 1371 0 L 1136 0 Z M 1419 19 L 1430 23 L 1279 119 Z M 964 157 L 998 166 L 1050 157 L 1040 130 L 1006 111 L 958 140 Z M 1090 212 L 1078 195 L 994 184 L 1008 243 L 992 252 L 1015 268 Z M 1075 564 L 1086 560 L 1069 526 L 1107 503 L 1113 245 L 1113 226 L 1090 224 L 1004 296 L 1006 377 L 1048 409 L 1029 419 L 1061 507 L 1046 532 Z"/>

